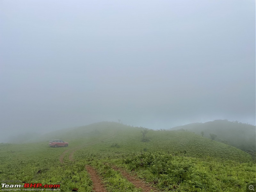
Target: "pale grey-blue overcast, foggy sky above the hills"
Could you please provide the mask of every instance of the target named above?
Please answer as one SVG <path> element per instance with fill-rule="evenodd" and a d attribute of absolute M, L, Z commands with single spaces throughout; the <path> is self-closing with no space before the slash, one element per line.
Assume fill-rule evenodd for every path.
<path fill-rule="evenodd" d="M 0 1 L 0 142 L 100 121 L 255 125 L 255 1 Z"/>

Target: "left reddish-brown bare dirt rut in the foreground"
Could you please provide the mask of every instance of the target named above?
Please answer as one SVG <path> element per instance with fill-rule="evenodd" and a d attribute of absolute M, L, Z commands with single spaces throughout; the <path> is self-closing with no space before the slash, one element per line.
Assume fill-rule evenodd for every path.
<path fill-rule="evenodd" d="M 92 180 L 92 187 L 93 190 L 95 192 L 107 192 L 105 186 L 103 185 L 103 183 L 101 182 L 97 172 L 89 165 L 85 166 L 87 172 L 90 174 L 91 176 L 91 180 Z"/>

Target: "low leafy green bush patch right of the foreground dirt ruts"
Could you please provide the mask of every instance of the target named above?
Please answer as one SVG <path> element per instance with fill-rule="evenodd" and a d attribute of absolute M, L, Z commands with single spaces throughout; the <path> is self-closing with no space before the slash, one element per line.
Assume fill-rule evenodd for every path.
<path fill-rule="evenodd" d="M 207 172 L 196 170 L 191 162 L 183 159 L 175 160 L 170 154 L 166 153 L 141 153 L 132 154 L 130 158 L 124 159 L 131 170 L 143 169 L 150 171 L 157 179 L 156 183 L 161 189 L 172 190 L 173 185 L 187 183 L 192 188 L 209 188 L 209 176 Z M 176 188 L 176 187 L 175 187 Z"/>

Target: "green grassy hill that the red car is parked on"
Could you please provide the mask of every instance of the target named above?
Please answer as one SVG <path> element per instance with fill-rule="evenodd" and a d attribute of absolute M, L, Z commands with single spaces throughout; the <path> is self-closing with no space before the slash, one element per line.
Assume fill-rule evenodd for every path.
<path fill-rule="evenodd" d="M 143 130 L 100 122 L 52 132 L 42 141 L 0 144 L 0 178 L 60 183 L 64 192 L 89 192 L 92 181 L 84 166 L 91 164 L 109 192 L 140 191 L 120 179 L 111 165 L 132 171 L 161 191 L 245 191 L 246 183 L 256 182 L 255 162 L 240 149 L 186 131 L 148 130 L 147 142 L 142 142 Z M 50 148 L 48 140 L 53 138 L 69 146 Z"/>

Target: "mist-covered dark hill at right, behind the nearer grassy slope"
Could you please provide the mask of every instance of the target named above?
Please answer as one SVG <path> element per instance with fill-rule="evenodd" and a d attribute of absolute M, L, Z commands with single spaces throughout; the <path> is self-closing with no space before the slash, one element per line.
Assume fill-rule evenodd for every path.
<path fill-rule="evenodd" d="M 256 152 L 256 127 L 241 122 L 230 122 L 228 120 L 214 120 L 206 123 L 192 123 L 173 127 L 170 130 L 184 130 L 201 134 L 204 132 L 206 138 L 210 133 L 216 134 L 216 141 L 234 146 L 251 155 Z"/>

